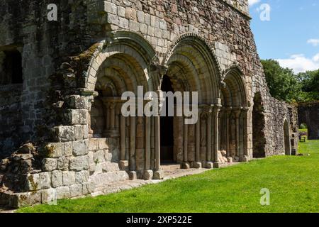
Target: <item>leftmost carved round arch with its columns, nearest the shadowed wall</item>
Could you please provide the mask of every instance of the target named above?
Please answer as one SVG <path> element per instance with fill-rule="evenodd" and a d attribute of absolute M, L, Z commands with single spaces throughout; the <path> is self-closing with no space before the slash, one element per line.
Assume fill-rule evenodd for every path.
<path fill-rule="evenodd" d="M 138 96 L 138 87 L 154 91 L 157 74 L 152 76 L 151 68 L 156 62 L 156 52 L 147 40 L 138 33 L 118 31 L 99 45 L 86 79 L 86 89 L 94 92 L 90 137 L 115 139 L 121 167 L 145 179 L 152 179 L 152 170 L 159 170 L 155 167 L 155 118 L 125 118 L 121 96 L 123 92 Z"/>

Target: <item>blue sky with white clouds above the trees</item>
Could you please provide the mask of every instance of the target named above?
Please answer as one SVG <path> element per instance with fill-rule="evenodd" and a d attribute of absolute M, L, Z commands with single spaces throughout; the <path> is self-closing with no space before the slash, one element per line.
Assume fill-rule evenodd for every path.
<path fill-rule="evenodd" d="M 319 68 L 319 0 L 249 1 L 252 31 L 262 59 L 276 59 L 295 72 Z M 266 9 L 261 9 L 262 4 L 270 6 L 270 21 L 260 19 Z"/>

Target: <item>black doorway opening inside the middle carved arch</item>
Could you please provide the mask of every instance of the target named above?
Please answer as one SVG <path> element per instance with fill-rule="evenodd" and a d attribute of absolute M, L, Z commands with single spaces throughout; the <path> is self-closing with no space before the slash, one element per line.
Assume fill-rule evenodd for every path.
<path fill-rule="evenodd" d="M 162 82 L 162 92 L 173 92 L 172 82 L 166 75 Z M 174 106 L 167 106 L 168 99 L 164 101 L 166 116 L 161 116 L 161 163 L 174 162 L 174 116 L 168 116 L 168 109 Z"/>

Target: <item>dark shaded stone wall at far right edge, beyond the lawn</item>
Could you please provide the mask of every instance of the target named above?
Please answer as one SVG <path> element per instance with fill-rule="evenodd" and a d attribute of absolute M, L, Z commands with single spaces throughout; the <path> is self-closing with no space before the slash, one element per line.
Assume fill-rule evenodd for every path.
<path fill-rule="evenodd" d="M 298 104 L 298 126 L 306 123 L 308 126 L 308 139 L 319 139 L 319 101 Z"/>

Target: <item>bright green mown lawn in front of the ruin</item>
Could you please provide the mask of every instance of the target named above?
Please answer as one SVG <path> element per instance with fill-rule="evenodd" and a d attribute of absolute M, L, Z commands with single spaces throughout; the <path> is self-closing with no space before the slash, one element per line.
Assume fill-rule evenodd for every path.
<path fill-rule="evenodd" d="M 301 143 L 310 156 L 269 157 L 138 189 L 39 205 L 18 212 L 319 212 L 319 140 Z M 262 188 L 270 205 L 261 206 Z"/>

